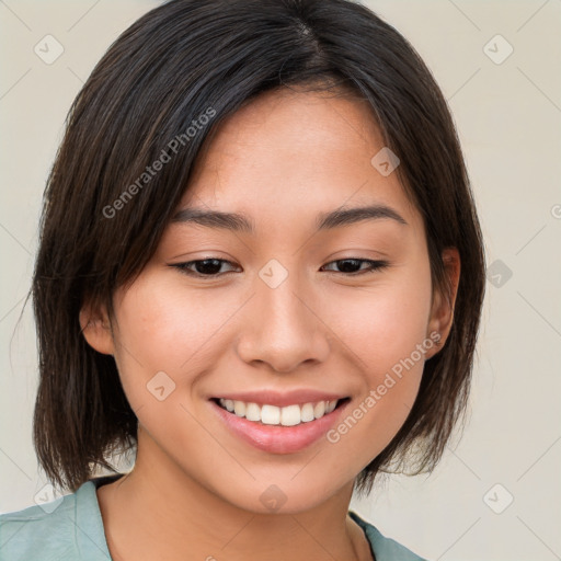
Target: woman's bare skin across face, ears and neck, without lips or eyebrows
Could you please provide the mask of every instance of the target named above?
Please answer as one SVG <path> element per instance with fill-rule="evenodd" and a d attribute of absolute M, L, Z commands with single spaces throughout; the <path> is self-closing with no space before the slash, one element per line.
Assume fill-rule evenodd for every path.
<path fill-rule="evenodd" d="M 316 388 L 351 397 L 352 412 L 431 332 L 446 340 L 459 255 L 443 253 L 450 306 L 433 295 L 421 215 L 397 174 L 370 163 L 382 147 L 364 102 L 262 95 L 219 129 L 180 205 L 244 213 L 256 233 L 171 224 L 138 279 L 115 293 L 114 318 L 82 308 L 84 336 L 115 357 L 139 421 L 134 470 L 98 490 L 115 560 L 371 559 L 347 515 L 353 483 L 404 423 L 424 360 L 438 347 L 337 443 L 320 438 L 297 454 L 242 442 L 208 399 Z M 366 204 L 386 204 L 408 225 L 378 219 L 314 231 L 319 213 Z M 231 263 L 210 280 L 170 266 L 209 256 Z M 389 266 L 345 275 L 333 262 L 351 257 Z M 271 259 L 288 272 L 276 288 L 259 276 Z M 175 383 L 163 401 L 147 391 L 158 371 Z M 274 513 L 260 501 L 271 484 L 286 495 Z"/>

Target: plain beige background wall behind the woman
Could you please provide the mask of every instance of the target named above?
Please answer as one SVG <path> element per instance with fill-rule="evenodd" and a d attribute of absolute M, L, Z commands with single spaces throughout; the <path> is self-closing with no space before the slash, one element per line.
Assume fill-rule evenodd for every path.
<path fill-rule="evenodd" d="M 431 477 L 391 478 L 352 507 L 432 560 L 561 559 L 561 1 L 365 3 L 411 41 L 449 100 L 493 265 L 462 439 Z M 157 4 L 0 1 L 0 512 L 34 504 L 46 483 L 31 440 L 31 302 L 16 325 L 45 180 L 82 82 Z M 65 49 L 51 65 L 34 53 L 47 34 Z M 502 64 L 483 49 L 496 34 L 514 48 Z M 507 53 L 503 39 L 489 48 Z M 512 277 L 495 286 L 500 267 Z M 501 514 L 489 506 L 510 495 Z"/>

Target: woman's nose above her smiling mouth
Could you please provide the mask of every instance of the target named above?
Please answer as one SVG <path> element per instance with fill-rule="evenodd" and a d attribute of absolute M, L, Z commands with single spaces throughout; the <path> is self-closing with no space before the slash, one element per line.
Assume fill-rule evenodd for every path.
<path fill-rule="evenodd" d="M 289 274 L 275 288 L 256 279 L 237 340 L 238 355 L 245 363 L 265 363 L 274 371 L 290 373 L 305 363 L 325 360 L 329 329 L 321 320 L 318 299 L 298 286 L 296 277 Z"/>

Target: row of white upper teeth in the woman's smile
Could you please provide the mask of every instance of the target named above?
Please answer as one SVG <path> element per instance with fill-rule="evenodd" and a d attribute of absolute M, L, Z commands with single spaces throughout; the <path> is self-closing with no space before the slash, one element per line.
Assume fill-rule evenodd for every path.
<path fill-rule="evenodd" d="M 277 408 L 276 405 L 260 405 L 257 403 L 245 403 L 244 401 L 219 399 L 220 405 L 236 413 L 238 416 L 244 416 L 248 421 L 261 421 L 266 425 L 294 426 L 300 423 L 308 423 L 323 415 L 331 413 L 339 400 L 318 401 L 317 403 L 305 403 L 304 405 L 287 405 Z"/>

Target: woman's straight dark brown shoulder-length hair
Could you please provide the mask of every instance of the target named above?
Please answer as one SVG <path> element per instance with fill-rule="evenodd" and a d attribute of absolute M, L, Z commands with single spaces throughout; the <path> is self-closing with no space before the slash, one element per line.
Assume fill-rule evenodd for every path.
<path fill-rule="evenodd" d="M 76 491 L 94 468 L 115 471 L 110 455 L 134 449 L 137 438 L 114 358 L 81 333 L 84 299 L 112 314 L 115 289 L 152 256 L 203 142 L 259 94 L 297 85 L 339 88 L 369 103 L 401 160 L 397 173 L 425 224 L 433 287 L 445 295 L 442 251 L 459 251 L 449 337 L 425 363 L 405 423 L 356 488 L 369 492 L 390 465 L 413 459 L 421 472 L 440 459 L 466 410 L 484 254 L 459 140 L 431 71 L 399 32 L 350 0 L 171 0 L 126 30 L 94 68 L 44 195 L 32 285 L 39 345 L 33 440 L 54 485 Z M 165 164 L 148 174 L 164 154 Z"/>

